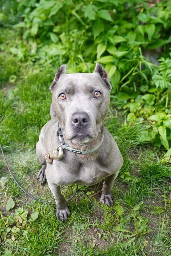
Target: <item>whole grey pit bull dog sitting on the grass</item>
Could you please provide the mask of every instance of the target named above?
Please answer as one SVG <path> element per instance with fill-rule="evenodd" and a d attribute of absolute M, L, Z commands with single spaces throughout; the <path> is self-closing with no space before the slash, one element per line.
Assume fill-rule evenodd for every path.
<path fill-rule="evenodd" d="M 73 183 L 93 185 L 106 178 L 100 202 L 110 206 L 113 203 L 111 190 L 123 165 L 123 158 L 115 140 L 104 126 L 111 84 L 100 64 L 96 64 L 92 74 L 66 74 L 66 65 L 62 65 L 50 90 L 53 93 L 53 118 L 43 126 L 36 145 L 36 154 L 43 165 L 38 177 L 41 182 L 47 178 L 56 202 L 56 216 L 66 221 L 70 213 L 60 186 Z M 53 159 L 47 163 L 46 154 L 61 144 L 57 135 L 58 124 L 65 143 L 75 151 L 64 150 L 60 160 Z M 93 152 L 74 153 L 77 150 Z"/>

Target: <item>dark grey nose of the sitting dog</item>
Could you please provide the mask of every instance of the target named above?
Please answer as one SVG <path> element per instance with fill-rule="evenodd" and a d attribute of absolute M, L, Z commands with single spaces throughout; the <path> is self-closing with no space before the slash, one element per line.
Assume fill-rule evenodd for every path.
<path fill-rule="evenodd" d="M 75 127 L 83 128 L 88 124 L 89 116 L 86 113 L 74 113 L 71 120 Z"/>

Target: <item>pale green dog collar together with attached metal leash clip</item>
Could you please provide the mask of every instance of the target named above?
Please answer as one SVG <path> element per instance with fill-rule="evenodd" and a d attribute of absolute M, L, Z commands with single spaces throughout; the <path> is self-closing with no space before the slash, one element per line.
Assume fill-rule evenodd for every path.
<path fill-rule="evenodd" d="M 100 145 L 102 144 L 103 139 L 104 139 L 104 136 L 103 136 L 101 142 L 95 148 L 90 149 L 90 150 L 86 150 L 86 151 L 81 151 L 81 150 L 69 147 L 69 145 L 65 142 L 59 123 L 58 123 L 57 135 L 58 135 L 58 138 L 59 138 L 61 144 L 56 149 L 47 153 L 47 155 L 46 155 L 46 162 L 47 163 L 52 163 L 53 159 L 60 160 L 63 157 L 63 154 L 64 154 L 63 150 L 64 149 L 69 150 L 69 151 L 71 151 L 73 153 L 76 153 L 76 154 L 79 154 L 79 155 L 90 154 L 90 153 L 96 151 L 100 147 Z"/>

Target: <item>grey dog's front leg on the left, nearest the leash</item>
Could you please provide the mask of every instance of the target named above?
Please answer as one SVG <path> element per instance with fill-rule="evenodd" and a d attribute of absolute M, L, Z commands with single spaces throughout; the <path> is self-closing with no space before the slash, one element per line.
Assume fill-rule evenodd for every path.
<path fill-rule="evenodd" d="M 54 195 L 54 199 L 56 202 L 56 217 L 58 217 L 61 221 L 66 221 L 70 215 L 70 212 L 66 204 L 65 198 L 60 192 L 60 186 L 49 183 L 48 185 L 52 194 Z"/>

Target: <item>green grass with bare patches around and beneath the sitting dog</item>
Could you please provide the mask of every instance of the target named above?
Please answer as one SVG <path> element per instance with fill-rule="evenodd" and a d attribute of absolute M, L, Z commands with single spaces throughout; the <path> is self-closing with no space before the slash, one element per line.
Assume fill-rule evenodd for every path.
<path fill-rule="evenodd" d="M 56 67 L 34 66 L 29 61 L 19 63 L 17 57 L 11 57 L 9 53 L 13 44 L 10 33 L 0 53 L 3 60 L 1 143 L 22 187 L 42 200 L 53 202 L 47 184 L 41 186 L 36 179 L 41 166 L 35 155 L 35 144 L 41 127 L 50 119 L 51 93 L 48 88 Z M 10 82 L 12 75 L 16 78 Z M 87 191 L 91 195 L 97 193 L 102 182 L 90 187 L 79 186 L 77 195 L 68 203 L 71 216 L 66 223 L 56 219 L 55 206 L 28 198 L 13 182 L 0 158 L 0 178 L 8 178 L 5 187 L 0 189 L 2 255 L 171 254 L 168 183 L 171 169 L 159 160 L 160 152 L 156 153 L 151 144 L 140 143 L 139 131 L 143 125 L 121 124 L 121 121 L 122 117 L 111 107 L 105 125 L 124 158 L 124 165 L 112 190 L 114 205 L 111 208 L 102 205 L 99 194 L 88 200 Z M 67 186 L 62 188 L 62 193 L 67 198 L 74 190 L 75 185 Z M 9 196 L 15 206 L 7 211 L 5 200 Z M 18 214 L 18 208 L 24 212 Z M 38 212 L 38 217 L 29 221 L 34 212 Z"/>

